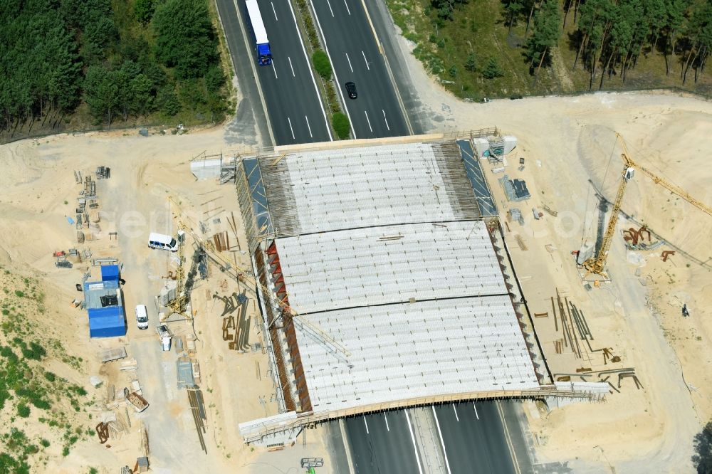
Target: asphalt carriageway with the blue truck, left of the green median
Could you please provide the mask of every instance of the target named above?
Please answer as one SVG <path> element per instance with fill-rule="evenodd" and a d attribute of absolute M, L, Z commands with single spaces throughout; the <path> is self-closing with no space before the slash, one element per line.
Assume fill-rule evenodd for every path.
<path fill-rule="evenodd" d="M 275 144 L 330 141 L 326 112 L 289 1 L 259 0 L 258 4 L 273 56 L 272 64 L 266 66 L 256 63 L 244 0 L 218 0 L 231 51 L 236 41 L 248 41 L 244 55 L 234 57 L 235 65 L 239 69 L 256 68 Z M 231 15 L 239 17 L 242 28 L 229 26 L 226 17 Z"/>

